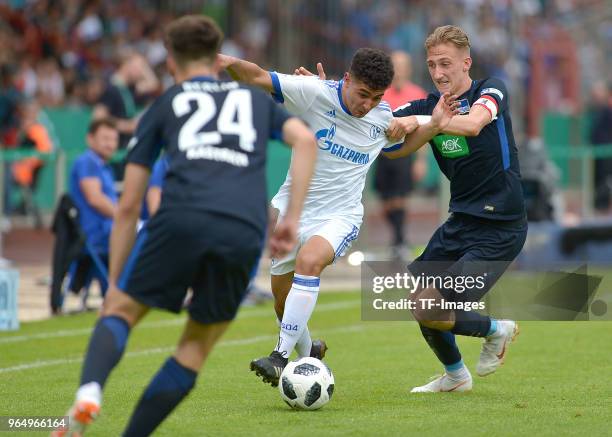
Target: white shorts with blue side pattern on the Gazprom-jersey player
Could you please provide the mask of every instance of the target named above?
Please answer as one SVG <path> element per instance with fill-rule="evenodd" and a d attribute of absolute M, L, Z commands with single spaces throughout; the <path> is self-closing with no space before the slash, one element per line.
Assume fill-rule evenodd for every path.
<path fill-rule="evenodd" d="M 281 217 L 278 218 L 281 220 Z M 270 274 L 284 275 L 295 270 L 295 259 L 298 251 L 312 237 L 318 235 L 329 241 L 329 244 L 334 248 L 334 262 L 337 258 L 343 256 L 354 240 L 359 235 L 359 227 L 354 224 L 339 218 L 327 220 L 308 221 L 300 224 L 298 229 L 297 244 L 291 252 L 285 255 L 284 258 L 272 258 L 272 267 Z"/>

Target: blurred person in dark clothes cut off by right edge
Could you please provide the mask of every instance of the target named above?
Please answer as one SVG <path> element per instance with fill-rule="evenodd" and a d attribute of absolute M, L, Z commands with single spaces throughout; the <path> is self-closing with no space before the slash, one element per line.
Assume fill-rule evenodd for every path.
<path fill-rule="evenodd" d="M 610 86 L 596 82 L 591 89 L 592 126 L 589 139 L 593 146 L 612 145 L 612 94 Z M 612 158 L 595 161 L 595 209 L 608 211 L 612 196 Z"/>

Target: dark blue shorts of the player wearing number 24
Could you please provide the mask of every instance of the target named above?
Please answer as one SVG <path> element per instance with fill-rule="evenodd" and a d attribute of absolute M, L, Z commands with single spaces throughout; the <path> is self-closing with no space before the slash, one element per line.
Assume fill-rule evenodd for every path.
<path fill-rule="evenodd" d="M 191 287 L 193 320 L 232 320 L 262 245 L 262 233 L 241 220 L 162 209 L 138 234 L 118 286 L 147 306 L 176 313 Z"/>

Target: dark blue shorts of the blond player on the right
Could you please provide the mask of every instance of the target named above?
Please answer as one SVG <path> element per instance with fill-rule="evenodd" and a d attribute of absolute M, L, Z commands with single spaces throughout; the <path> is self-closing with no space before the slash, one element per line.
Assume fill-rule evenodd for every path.
<path fill-rule="evenodd" d="M 440 278 L 432 282 L 446 300 L 477 302 L 516 258 L 526 238 L 526 219 L 499 221 L 453 213 L 408 269 L 414 276 Z"/>

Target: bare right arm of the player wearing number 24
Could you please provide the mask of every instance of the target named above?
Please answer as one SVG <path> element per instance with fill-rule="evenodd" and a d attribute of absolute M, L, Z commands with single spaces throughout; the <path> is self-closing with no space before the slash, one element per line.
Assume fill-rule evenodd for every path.
<path fill-rule="evenodd" d="M 313 133 L 296 117 L 283 125 L 283 140 L 291 146 L 291 194 L 287 212 L 270 237 L 270 254 L 282 257 L 297 241 L 298 222 L 317 160 L 317 143 Z"/>

